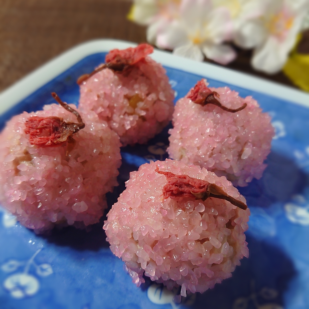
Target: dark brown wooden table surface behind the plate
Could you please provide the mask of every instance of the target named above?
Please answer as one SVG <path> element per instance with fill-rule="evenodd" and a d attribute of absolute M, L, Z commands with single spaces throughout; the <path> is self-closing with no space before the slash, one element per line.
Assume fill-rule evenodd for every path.
<path fill-rule="evenodd" d="M 146 42 L 146 27 L 126 19 L 129 0 L 0 0 L 0 91 L 76 44 L 113 38 Z M 227 67 L 292 85 L 282 73 L 252 70 L 250 51 Z"/>

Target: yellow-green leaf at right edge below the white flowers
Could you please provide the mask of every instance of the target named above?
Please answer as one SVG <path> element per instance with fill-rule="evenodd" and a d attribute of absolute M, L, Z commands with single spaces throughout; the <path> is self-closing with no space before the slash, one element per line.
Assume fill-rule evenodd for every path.
<path fill-rule="evenodd" d="M 309 54 L 300 54 L 294 48 L 282 71 L 296 86 L 309 91 Z"/>

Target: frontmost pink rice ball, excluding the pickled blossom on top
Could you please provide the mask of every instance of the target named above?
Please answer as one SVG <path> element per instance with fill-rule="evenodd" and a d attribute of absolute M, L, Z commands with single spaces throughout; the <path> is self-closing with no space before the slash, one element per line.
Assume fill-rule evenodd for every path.
<path fill-rule="evenodd" d="M 157 167 L 214 183 L 239 201 L 245 198 L 224 176 L 166 159 L 131 172 L 107 215 L 103 228 L 110 248 L 125 261 L 137 286 L 145 274 L 168 289 L 181 286 L 182 296 L 186 291 L 202 293 L 231 277 L 243 256 L 248 257 L 244 231 L 250 211 L 211 197 L 164 199 L 167 178 L 155 171 Z"/>

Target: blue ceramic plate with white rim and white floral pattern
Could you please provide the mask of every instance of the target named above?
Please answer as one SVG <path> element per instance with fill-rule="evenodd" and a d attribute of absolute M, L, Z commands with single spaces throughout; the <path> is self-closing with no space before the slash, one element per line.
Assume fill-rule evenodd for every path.
<path fill-rule="evenodd" d="M 77 104 L 77 78 L 104 62 L 108 50 L 130 45 L 88 42 L 28 75 L 0 94 L 1 128 L 14 114 L 52 103 L 52 91 Z M 227 85 L 243 97 L 252 95 L 273 118 L 276 136 L 268 167 L 260 180 L 239 188 L 251 210 L 246 233 L 250 257 L 213 290 L 175 303 L 177 290 L 150 280 L 140 288 L 131 282 L 105 241 L 104 218 L 89 231 L 68 227 L 40 236 L 0 208 L 0 308 L 309 308 L 309 96 L 169 53 L 155 51 L 153 58 L 165 66 L 176 100 L 205 77 L 212 87 Z M 120 185 L 108 194 L 109 207 L 130 171 L 167 158 L 167 129 L 147 145 L 122 148 Z"/>

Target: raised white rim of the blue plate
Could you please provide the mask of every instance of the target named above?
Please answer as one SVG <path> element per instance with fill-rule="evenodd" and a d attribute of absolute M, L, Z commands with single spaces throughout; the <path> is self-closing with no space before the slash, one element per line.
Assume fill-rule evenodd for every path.
<path fill-rule="evenodd" d="M 108 52 L 111 49 L 125 49 L 136 46 L 136 43 L 98 39 L 79 44 L 61 55 L 50 60 L 43 66 L 26 75 L 11 87 L 0 93 L 0 114 L 6 112 L 34 91 L 48 83 L 65 70 L 76 64 L 83 58 L 100 52 Z M 251 76 L 235 70 L 206 62 L 198 62 L 179 57 L 169 52 L 155 49 L 151 57 L 165 66 L 215 79 L 220 82 L 257 91 L 266 95 L 277 97 L 295 104 L 309 108 L 309 94 L 289 86 L 271 82 L 263 78 Z"/>

